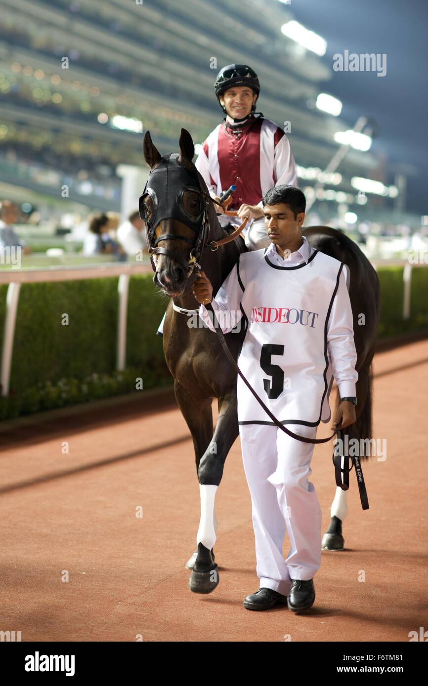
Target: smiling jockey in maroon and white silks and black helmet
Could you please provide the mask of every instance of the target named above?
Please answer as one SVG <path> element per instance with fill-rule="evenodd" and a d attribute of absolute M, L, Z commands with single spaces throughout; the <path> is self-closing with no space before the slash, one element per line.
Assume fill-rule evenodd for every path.
<path fill-rule="evenodd" d="M 238 216 L 229 217 L 217 206 L 220 224 L 239 226 L 248 217 L 245 245 L 248 250 L 266 248 L 271 241 L 264 226 L 262 198 L 274 186 L 298 187 L 291 145 L 282 128 L 262 113 L 256 116 L 260 82 L 254 69 L 228 64 L 218 72 L 214 89 L 226 116 L 203 142 L 195 167 L 217 201 L 223 191 L 236 186 L 227 209 L 238 211 Z M 159 336 L 164 320 L 165 315 Z"/>

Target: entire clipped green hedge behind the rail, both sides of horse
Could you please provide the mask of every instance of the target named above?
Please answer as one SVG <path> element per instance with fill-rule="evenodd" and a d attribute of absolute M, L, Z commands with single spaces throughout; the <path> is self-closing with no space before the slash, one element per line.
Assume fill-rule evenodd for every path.
<path fill-rule="evenodd" d="M 428 327 L 428 268 L 412 270 L 411 317 L 403 322 L 403 268 L 382 267 L 379 338 Z M 0 285 L 3 334 L 7 285 Z M 156 335 L 168 298 L 151 274 L 129 284 L 126 370 L 115 371 L 117 278 L 23 284 L 14 340 L 10 396 L 0 418 L 172 383 Z M 62 324 L 67 314 L 69 323 Z"/>

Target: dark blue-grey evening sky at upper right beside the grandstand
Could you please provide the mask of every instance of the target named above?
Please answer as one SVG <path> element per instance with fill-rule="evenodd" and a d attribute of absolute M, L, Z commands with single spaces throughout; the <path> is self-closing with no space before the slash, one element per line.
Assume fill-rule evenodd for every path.
<path fill-rule="evenodd" d="M 343 102 L 352 126 L 370 115 L 379 126 L 373 152 L 387 156 L 387 182 L 398 165 L 410 167 L 407 209 L 428 215 L 428 1 L 291 0 L 285 9 L 327 41 L 322 60 L 333 55 L 386 53 L 387 73 L 334 72 L 324 89 Z"/>

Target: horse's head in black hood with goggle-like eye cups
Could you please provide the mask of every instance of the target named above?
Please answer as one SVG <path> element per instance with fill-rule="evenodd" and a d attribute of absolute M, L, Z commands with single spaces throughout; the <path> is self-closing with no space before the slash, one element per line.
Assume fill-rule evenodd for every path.
<path fill-rule="evenodd" d="M 169 296 L 183 294 L 209 231 L 210 199 L 192 163 L 194 145 L 185 129 L 179 145 L 179 154 L 161 156 L 146 132 L 143 150 L 150 176 L 139 198 L 155 269 L 153 281 Z"/>

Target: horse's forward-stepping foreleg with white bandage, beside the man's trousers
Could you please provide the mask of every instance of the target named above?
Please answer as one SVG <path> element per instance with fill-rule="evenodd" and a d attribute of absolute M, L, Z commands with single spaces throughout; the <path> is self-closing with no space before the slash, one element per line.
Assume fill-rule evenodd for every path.
<path fill-rule="evenodd" d="M 218 399 L 218 407 L 216 430 L 198 469 L 201 519 L 196 534 L 198 554 L 189 580 L 189 588 L 194 593 L 211 593 L 219 581 L 218 567 L 211 555 L 217 528 L 214 504 L 227 454 L 239 434 L 235 388 Z"/>

